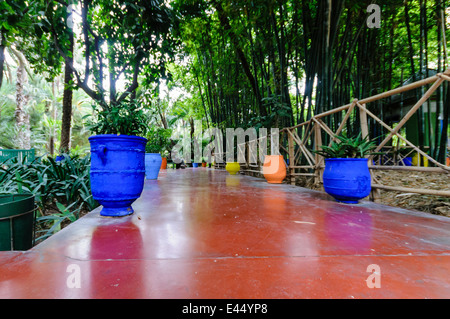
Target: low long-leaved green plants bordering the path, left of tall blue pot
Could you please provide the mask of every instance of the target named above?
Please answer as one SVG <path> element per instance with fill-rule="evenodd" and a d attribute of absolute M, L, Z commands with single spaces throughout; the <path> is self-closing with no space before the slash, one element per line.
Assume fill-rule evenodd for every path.
<path fill-rule="evenodd" d="M 0 194 L 32 193 L 38 206 L 38 240 L 61 228 L 65 220 L 98 206 L 90 188 L 90 157 L 69 157 L 56 162 L 37 158 L 31 164 L 17 158 L 0 165 Z"/>

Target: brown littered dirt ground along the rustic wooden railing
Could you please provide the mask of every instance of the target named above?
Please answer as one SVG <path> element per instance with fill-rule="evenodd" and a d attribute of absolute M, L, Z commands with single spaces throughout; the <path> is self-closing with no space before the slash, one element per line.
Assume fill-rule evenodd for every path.
<path fill-rule="evenodd" d="M 414 171 L 376 171 L 380 184 L 407 188 L 423 188 L 450 191 L 450 175 Z M 297 185 L 320 190 L 312 180 L 297 180 Z M 450 217 L 450 197 L 421 195 L 416 193 L 379 190 L 377 203 L 410 210 Z"/>

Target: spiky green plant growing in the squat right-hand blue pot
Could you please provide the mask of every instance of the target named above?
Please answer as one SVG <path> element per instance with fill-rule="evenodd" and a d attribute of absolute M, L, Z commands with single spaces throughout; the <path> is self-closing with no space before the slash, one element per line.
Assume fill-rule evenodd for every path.
<path fill-rule="evenodd" d="M 357 137 L 347 137 L 346 135 L 336 135 L 339 141 L 333 141 L 331 146 L 322 145 L 322 150 L 313 151 L 326 158 L 363 158 L 366 155 L 373 155 L 372 151 L 377 147 L 374 140 L 369 140 L 368 136 L 362 138 L 361 133 Z"/>

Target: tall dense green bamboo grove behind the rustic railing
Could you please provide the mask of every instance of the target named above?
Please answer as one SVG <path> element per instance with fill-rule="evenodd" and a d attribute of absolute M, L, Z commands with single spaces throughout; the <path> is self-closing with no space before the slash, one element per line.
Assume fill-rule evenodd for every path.
<path fill-rule="evenodd" d="M 369 5 L 380 26 L 369 27 Z M 388 91 L 448 68 L 447 0 L 175 1 L 187 73 L 208 123 L 289 127 L 352 99 Z M 434 118 L 414 119 L 418 145 L 444 161 L 449 95 L 442 86 Z M 415 92 L 417 97 L 423 92 Z M 369 106 L 387 123 L 391 100 Z M 350 119 L 349 133 L 359 132 Z M 336 129 L 338 113 L 327 125 Z M 434 123 L 431 123 L 434 122 Z M 382 133 L 376 123 L 372 136 Z"/>

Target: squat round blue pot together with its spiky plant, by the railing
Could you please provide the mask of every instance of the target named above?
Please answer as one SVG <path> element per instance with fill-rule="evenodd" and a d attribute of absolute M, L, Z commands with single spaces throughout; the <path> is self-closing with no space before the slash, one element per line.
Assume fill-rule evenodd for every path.
<path fill-rule="evenodd" d="M 337 201 L 356 204 L 372 190 L 367 155 L 376 154 L 376 142 L 361 133 L 356 137 L 336 136 L 330 146 L 315 150 L 325 157 L 323 187 Z"/>

